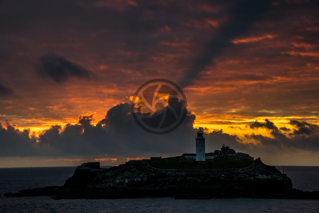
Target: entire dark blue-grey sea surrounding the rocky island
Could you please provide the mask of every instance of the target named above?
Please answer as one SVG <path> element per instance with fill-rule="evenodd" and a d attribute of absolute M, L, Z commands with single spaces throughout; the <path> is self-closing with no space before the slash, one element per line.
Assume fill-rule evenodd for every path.
<path fill-rule="evenodd" d="M 101 166 L 107 168 L 107 166 Z M 292 179 L 293 187 L 319 191 L 319 166 L 275 166 Z M 6 197 L 6 192 L 60 186 L 76 166 L 0 168 L 0 213 L 5 212 L 319 212 L 319 200 L 211 199 L 175 200 L 174 197 L 98 200 L 54 200 L 48 196 Z"/>

